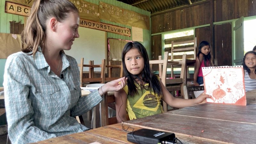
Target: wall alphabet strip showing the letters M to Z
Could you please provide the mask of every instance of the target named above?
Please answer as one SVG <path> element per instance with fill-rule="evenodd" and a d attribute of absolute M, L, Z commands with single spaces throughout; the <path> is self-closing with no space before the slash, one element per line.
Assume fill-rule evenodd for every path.
<path fill-rule="evenodd" d="M 131 30 L 129 28 L 122 28 L 119 26 L 114 26 L 114 25 L 90 21 L 90 20 L 80 19 L 79 26 L 85 27 L 85 28 L 98 29 L 102 31 L 108 31 L 108 32 L 112 32 L 112 33 L 116 33 L 124 36 L 131 36 Z"/>

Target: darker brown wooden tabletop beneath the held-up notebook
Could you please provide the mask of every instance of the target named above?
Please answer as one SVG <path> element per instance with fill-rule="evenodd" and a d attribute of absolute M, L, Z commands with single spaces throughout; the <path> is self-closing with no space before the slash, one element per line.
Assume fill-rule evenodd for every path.
<path fill-rule="evenodd" d="M 173 132 L 202 140 L 200 143 L 255 143 L 256 90 L 246 92 L 247 105 L 205 103 L 163 114 L 127 121 L 126 124 Z"/>

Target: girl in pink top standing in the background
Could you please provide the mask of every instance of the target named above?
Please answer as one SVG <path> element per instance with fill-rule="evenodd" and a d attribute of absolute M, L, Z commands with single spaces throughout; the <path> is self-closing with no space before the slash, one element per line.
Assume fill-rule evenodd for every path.
<path fill-rule="evenodd" d="M 212 67 L 211 45 L 207 41 L 202 41 L 198 46 L 196 54 L 196 64 L 194 73 L 194 84 L 199 86 L 204 84 L 202 67 Z"/>

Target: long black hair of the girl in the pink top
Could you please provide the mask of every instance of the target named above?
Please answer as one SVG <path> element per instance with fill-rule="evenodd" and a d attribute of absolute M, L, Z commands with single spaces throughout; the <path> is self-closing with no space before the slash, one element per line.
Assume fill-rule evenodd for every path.
<path fill-rule="evenodd" d="M 206 45 L 209 45 L 210 46 L 210 52 L 208 55 L 205 55 L 204 53 L 201 52 L 201 49 L 202 47 L 206 46 Z M 202 41 L 199 46 L 198 46 L 198 52 L 196 54 L 196 57 L 199 59 L 199 55 L 200 53 L 202 53 L 204 55 L 204 66 L 205 67 L 210 67 L 210 66 L 213 66 L 213 63 L 212 63 L 212 54 L 211 54 L 211 51 L 212 51 L 212 47 L 211 47 L 211 44 L 207 41 Z M 209 61 L 209 65 L 207 65 L 207 61 Z"/>

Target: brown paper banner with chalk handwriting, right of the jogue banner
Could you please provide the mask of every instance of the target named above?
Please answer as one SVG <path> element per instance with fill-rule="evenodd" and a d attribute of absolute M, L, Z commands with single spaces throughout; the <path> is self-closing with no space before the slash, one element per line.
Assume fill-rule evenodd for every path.
<path fill-rule="evenodd" d="M 99 9 L 100 19 L 121 23 L 128 26 L 149 29 L 149 16 L 104 2 L 100 2 Z"/>

